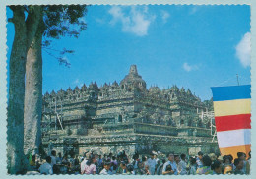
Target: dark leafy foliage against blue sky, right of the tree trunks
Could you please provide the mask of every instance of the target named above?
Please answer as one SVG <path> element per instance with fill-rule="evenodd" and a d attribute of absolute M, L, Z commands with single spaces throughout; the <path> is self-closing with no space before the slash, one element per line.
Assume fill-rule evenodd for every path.
<path fill-rule="evenodd" d="M 81 31 L 87 29 L 84 16 L 87 14 L 86 5 L 54 5 L 43 7 L 42 48 L 50 56 L 56 58 L 59 64 L 69 67 L 70 63 L 65 54 L 73 54 L 73 50 L 54 49 L 50 46 L 52 39 L 64 36 L 78 38 Z M 57 55 L 56 55 L 57 53 Z"/>

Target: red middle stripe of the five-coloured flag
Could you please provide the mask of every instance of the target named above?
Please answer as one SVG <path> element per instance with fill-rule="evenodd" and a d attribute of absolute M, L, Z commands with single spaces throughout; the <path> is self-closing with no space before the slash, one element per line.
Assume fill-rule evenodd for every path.
<path fill-rule="evenodd" d="M 251 114 L 215 117 L 216 131 L 251 129 Z"/>

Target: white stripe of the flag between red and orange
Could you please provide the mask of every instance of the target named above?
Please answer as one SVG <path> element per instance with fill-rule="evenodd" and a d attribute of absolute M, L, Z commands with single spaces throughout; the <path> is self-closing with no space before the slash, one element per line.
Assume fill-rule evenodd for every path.
<path fill-rule="evenodd" d="M 251 144 L 251 129 L 217 132 L 219 148 Z"/>

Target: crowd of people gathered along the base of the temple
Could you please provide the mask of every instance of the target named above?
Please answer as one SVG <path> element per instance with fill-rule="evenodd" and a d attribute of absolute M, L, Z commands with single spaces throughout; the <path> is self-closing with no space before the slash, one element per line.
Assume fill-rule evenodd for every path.
<path fill-rule="evenodd" d="M 204 154 L 197 156 L 153 152 L 149 155 L 135 153 L 131 158 L 125 151 L 98 155 L 85 152 L 83 156 L 56 154 L 51 151 L 44 160 L 38 155 L 30 158 L 31 170 L 40 174 L 134 174 L 134 175 L 196 175 L 196 174 L 250 174 L 251 154 L 238 152 L 232 155 Z"/>

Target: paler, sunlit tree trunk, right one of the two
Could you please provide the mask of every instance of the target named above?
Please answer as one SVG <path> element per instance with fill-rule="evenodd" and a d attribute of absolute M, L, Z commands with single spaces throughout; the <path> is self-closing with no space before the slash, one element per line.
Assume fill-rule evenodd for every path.
<path fill-rule="evenodd" d="M 38 153 L 41 143 L 42 33 L 37 30 L 27 54 L 24 108 L 24 152 Z"/>

